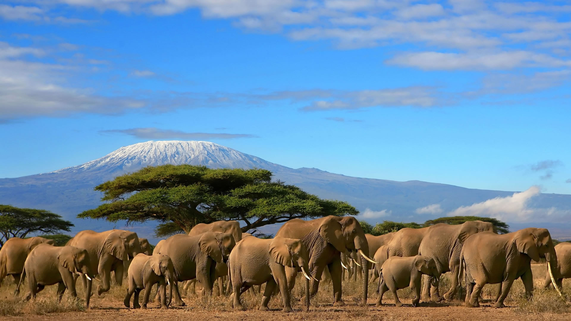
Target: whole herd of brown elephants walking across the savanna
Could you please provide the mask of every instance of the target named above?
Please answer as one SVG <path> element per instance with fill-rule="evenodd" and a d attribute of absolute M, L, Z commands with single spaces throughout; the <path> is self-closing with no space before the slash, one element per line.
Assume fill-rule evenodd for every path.
<path fill-rule="evenodd" d="M 243 233 L 238 222 L 219 221 L 198 224 L 188 234 L 161 240 L 152 251 L 146 239 L 126 230 L 81 231 L 63 247 L 41 237 L 12 238 L 0 249 L 0 284 L 12 275 L 18 294 L 26 283 L 26 299 L 35 298 L 47 285 L 58 284 L 61 299 L 66 289 L 76 296 L 75 282 L 81 278 L 89 307 L 93 279 L 100 283 L 97 295 L 102 295 L 110 289 L 112 277 L 120 286 L 127 272 L 126 307 L 134 295 L 132 306 L 146 308 L 151 288 L 158 284 L 158 302 L 167 308 L 171 303 L 185 305 L 179 283 L 184 282 L 184 288 L 191 291 L 199 283 L 206 295 L 212 294 L 218 280 L 220 294 L 226 291 L 228 304 L 236 310 L 243 309 L 240 295 L 266 284 L 259 310 L 268 310 L 271 296 L 279 292 L 282 311 L 290 312 L 297 274 L 304 280 L 301 302 L 309 308 L 309 299 L 317 293 L 324 275 L 331 278 L 333 306 L 344 306 L 341 286 L 345 271 L 354 278 L 360 275 L 360 304 L 367 306 L 371 272 L 372 281 L 378 279 L 377 306 L 386 291 L 392 292 L 396 306 L 401 306 L 396 290 L 405 287 L 415 294 L 413 306 L 420 300 L 452 300 L 464 277 L 465 306 L 477 307 L 482 287 L 498 284 L 495 306 L 502 307 L 517 278 L 524 283 L 526 295 L 532 295 L 530 263 L 540 258 L 548 264 L 544 286 L 553 283 L 559 292 L 562 279 L 571 278 L 571 243 L 554 247 L 544 228 L 498 235 L 491 223 L 476 220 L 373 236 L 365 234 L 352 216 L 326 216 L 289 220 L 273 239 L 259 239 Z M 446 272 L 451 272 L 451 287 L 440 295 L 440 276 Z M 224 276 L 228 279 L 226 290 Z M 143 290 L 140 305 L 139 292 Z"/>

